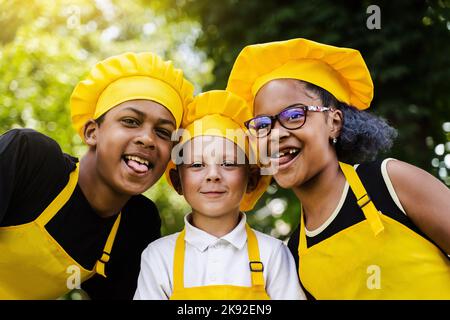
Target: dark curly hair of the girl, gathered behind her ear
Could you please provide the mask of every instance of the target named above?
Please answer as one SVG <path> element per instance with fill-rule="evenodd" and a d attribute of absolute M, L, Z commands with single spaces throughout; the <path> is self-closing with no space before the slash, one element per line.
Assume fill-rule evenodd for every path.
<path fill-rule="evenodd" d="M 336 143 L 339 161 L 354 164 L 374 160 L 388 151 L 397 137 L 397 130 L 379 116 L 339 102 L 327 90 L 301 81 L 306 89 L 316 93 L 325 107 L 334 106 L 344 115 L 341 134 Z"/>

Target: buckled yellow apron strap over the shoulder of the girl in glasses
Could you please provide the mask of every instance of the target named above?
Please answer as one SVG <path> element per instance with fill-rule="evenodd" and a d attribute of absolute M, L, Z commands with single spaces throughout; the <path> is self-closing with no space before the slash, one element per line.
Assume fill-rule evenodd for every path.
<path fill-rule="evenodd" d="M 356 196 L 358 206 L 364 212 L 364 215 L 366 216 L 367 221 L 369 221 L 370 227 L 372 228 L 374 234 L 378 235 L 381 231 L 384 230 L 383 223 L 381 222 L 380 215 L 377 208 L 375 207 L 375 204 L 367 194 L 367 191 L 364 188 L 361 180 L 359 179 L 355 168 L 353 168 L 353 166 L 349 164 L 342 162 L 339 162 L 339 165 L 350 185 L 350 188 L 352 188 L 353 193 Z"/>

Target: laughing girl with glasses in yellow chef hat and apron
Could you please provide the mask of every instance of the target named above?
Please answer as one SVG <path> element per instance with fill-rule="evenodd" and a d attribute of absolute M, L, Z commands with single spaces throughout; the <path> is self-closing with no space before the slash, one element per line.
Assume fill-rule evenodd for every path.
<path fill-rule="evenodd" d="M 247 46 L 227 90 L 302 204 L 289 241 L 316 299 L 449 299 L 450 190 L 387 151 L 396 131 L 364 111 L 373 83 L 357 50 L 306 39 Z"/>

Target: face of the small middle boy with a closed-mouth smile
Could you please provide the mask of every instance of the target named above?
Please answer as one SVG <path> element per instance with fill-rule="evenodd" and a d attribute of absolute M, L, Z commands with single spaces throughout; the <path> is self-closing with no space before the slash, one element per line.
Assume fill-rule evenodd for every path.
<path fill-rule="evenodd" d="M 182 192 L 194 213 L 210 218 L 239 212 L 247 190 L 248 164 L 230 140 L 198 136 L 183 147 L 178 167 Z"/>

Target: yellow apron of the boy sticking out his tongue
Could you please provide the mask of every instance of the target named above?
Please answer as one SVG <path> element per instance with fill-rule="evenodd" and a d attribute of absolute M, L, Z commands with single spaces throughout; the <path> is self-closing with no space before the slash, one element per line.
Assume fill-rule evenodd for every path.
<path fill-rule="evenodd" d="M 29 223 L 0 227 L 0 299 L 56 299 L 95 273 L 105 275 L 105 263 L 120 223 L 117 217 L 104 252 L 93 270 L 84 269 L 47 232 L 45 225 L 70 199 L 78 181 L 78 165 L 50 205 Z"/>

